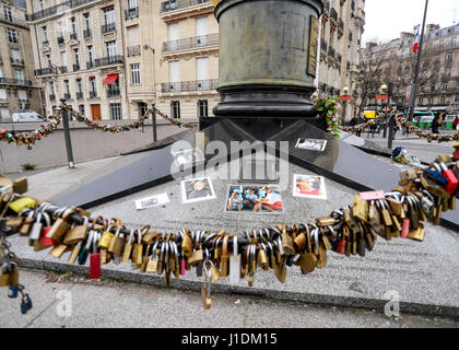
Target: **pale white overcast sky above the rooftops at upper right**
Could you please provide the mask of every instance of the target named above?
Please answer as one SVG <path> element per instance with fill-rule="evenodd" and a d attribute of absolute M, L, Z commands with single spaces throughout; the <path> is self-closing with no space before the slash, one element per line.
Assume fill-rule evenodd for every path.
<path fill-rule="evenodd" d="M 391 40 L 400 32 L 413 32 L 422 24 L 425 0 L 366 0 L 366 24 L 363 42 L 374 39 Z M 426 23 L 442 27 L 459 22 L 459 0 L 429 0 Z"/>

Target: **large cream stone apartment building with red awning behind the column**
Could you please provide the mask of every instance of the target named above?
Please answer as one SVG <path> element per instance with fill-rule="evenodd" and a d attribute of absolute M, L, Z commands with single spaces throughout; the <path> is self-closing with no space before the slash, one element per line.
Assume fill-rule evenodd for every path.
<path fill-rule="evenodd" d="M 187 121 L 212 116 L 220 96 L 211 1 L 26 1 L 48 114 L 64 98 L 94 120 L 137 119 L 152 104 Z M 365 2 L 323 2 L 318 92 L 351 94 Z M 351 115 L 352 101 L 345 107 Z"/>

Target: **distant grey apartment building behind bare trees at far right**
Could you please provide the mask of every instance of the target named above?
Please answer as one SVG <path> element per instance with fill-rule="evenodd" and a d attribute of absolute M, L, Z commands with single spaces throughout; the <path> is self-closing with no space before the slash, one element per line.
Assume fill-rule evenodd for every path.
<path fill-rule="evenodd" d="M 400 81 L 400 77 L 413 75 L 413 42 L 414 34 L 404 32 L 389 43 L 366 44 L 365 56 L 374 62 L 381 61 L 384 83 L 393 82 L 390 97 L 397 106 L 410 104 L 411 81 Z M 459 24 L 444 28 L 426 25 L 419 79 L 416 110 L 450 114 L 459 109 Z M 376 101 L 369 104 L 375 105 Z"/>

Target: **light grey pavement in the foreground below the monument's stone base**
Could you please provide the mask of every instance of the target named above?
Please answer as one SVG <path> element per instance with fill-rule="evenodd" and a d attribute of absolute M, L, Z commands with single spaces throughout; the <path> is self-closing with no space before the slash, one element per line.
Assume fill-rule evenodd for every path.
<path fill-rule="evenodd" d="M 20 299 L 1 289 L 0 328 L 458 328 L 443 317 L 308 306 L 304 303 L 212 294 L 203 310 L 199 292 L 142 287 L 104 279 L 87 281 L 71 273 L 21 271 L 34 307 L 20 312 Z M 229 316 L 231 315 L 231 316 Z"/>

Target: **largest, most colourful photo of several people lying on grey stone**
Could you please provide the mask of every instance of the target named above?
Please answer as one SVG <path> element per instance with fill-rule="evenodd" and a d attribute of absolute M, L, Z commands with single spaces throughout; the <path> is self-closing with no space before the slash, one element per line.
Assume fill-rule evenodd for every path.
<path fill-rule="evenodd" d="M 231 186 L 226 211 L 281 213 L 281 190 L 278 186 Z"/>

